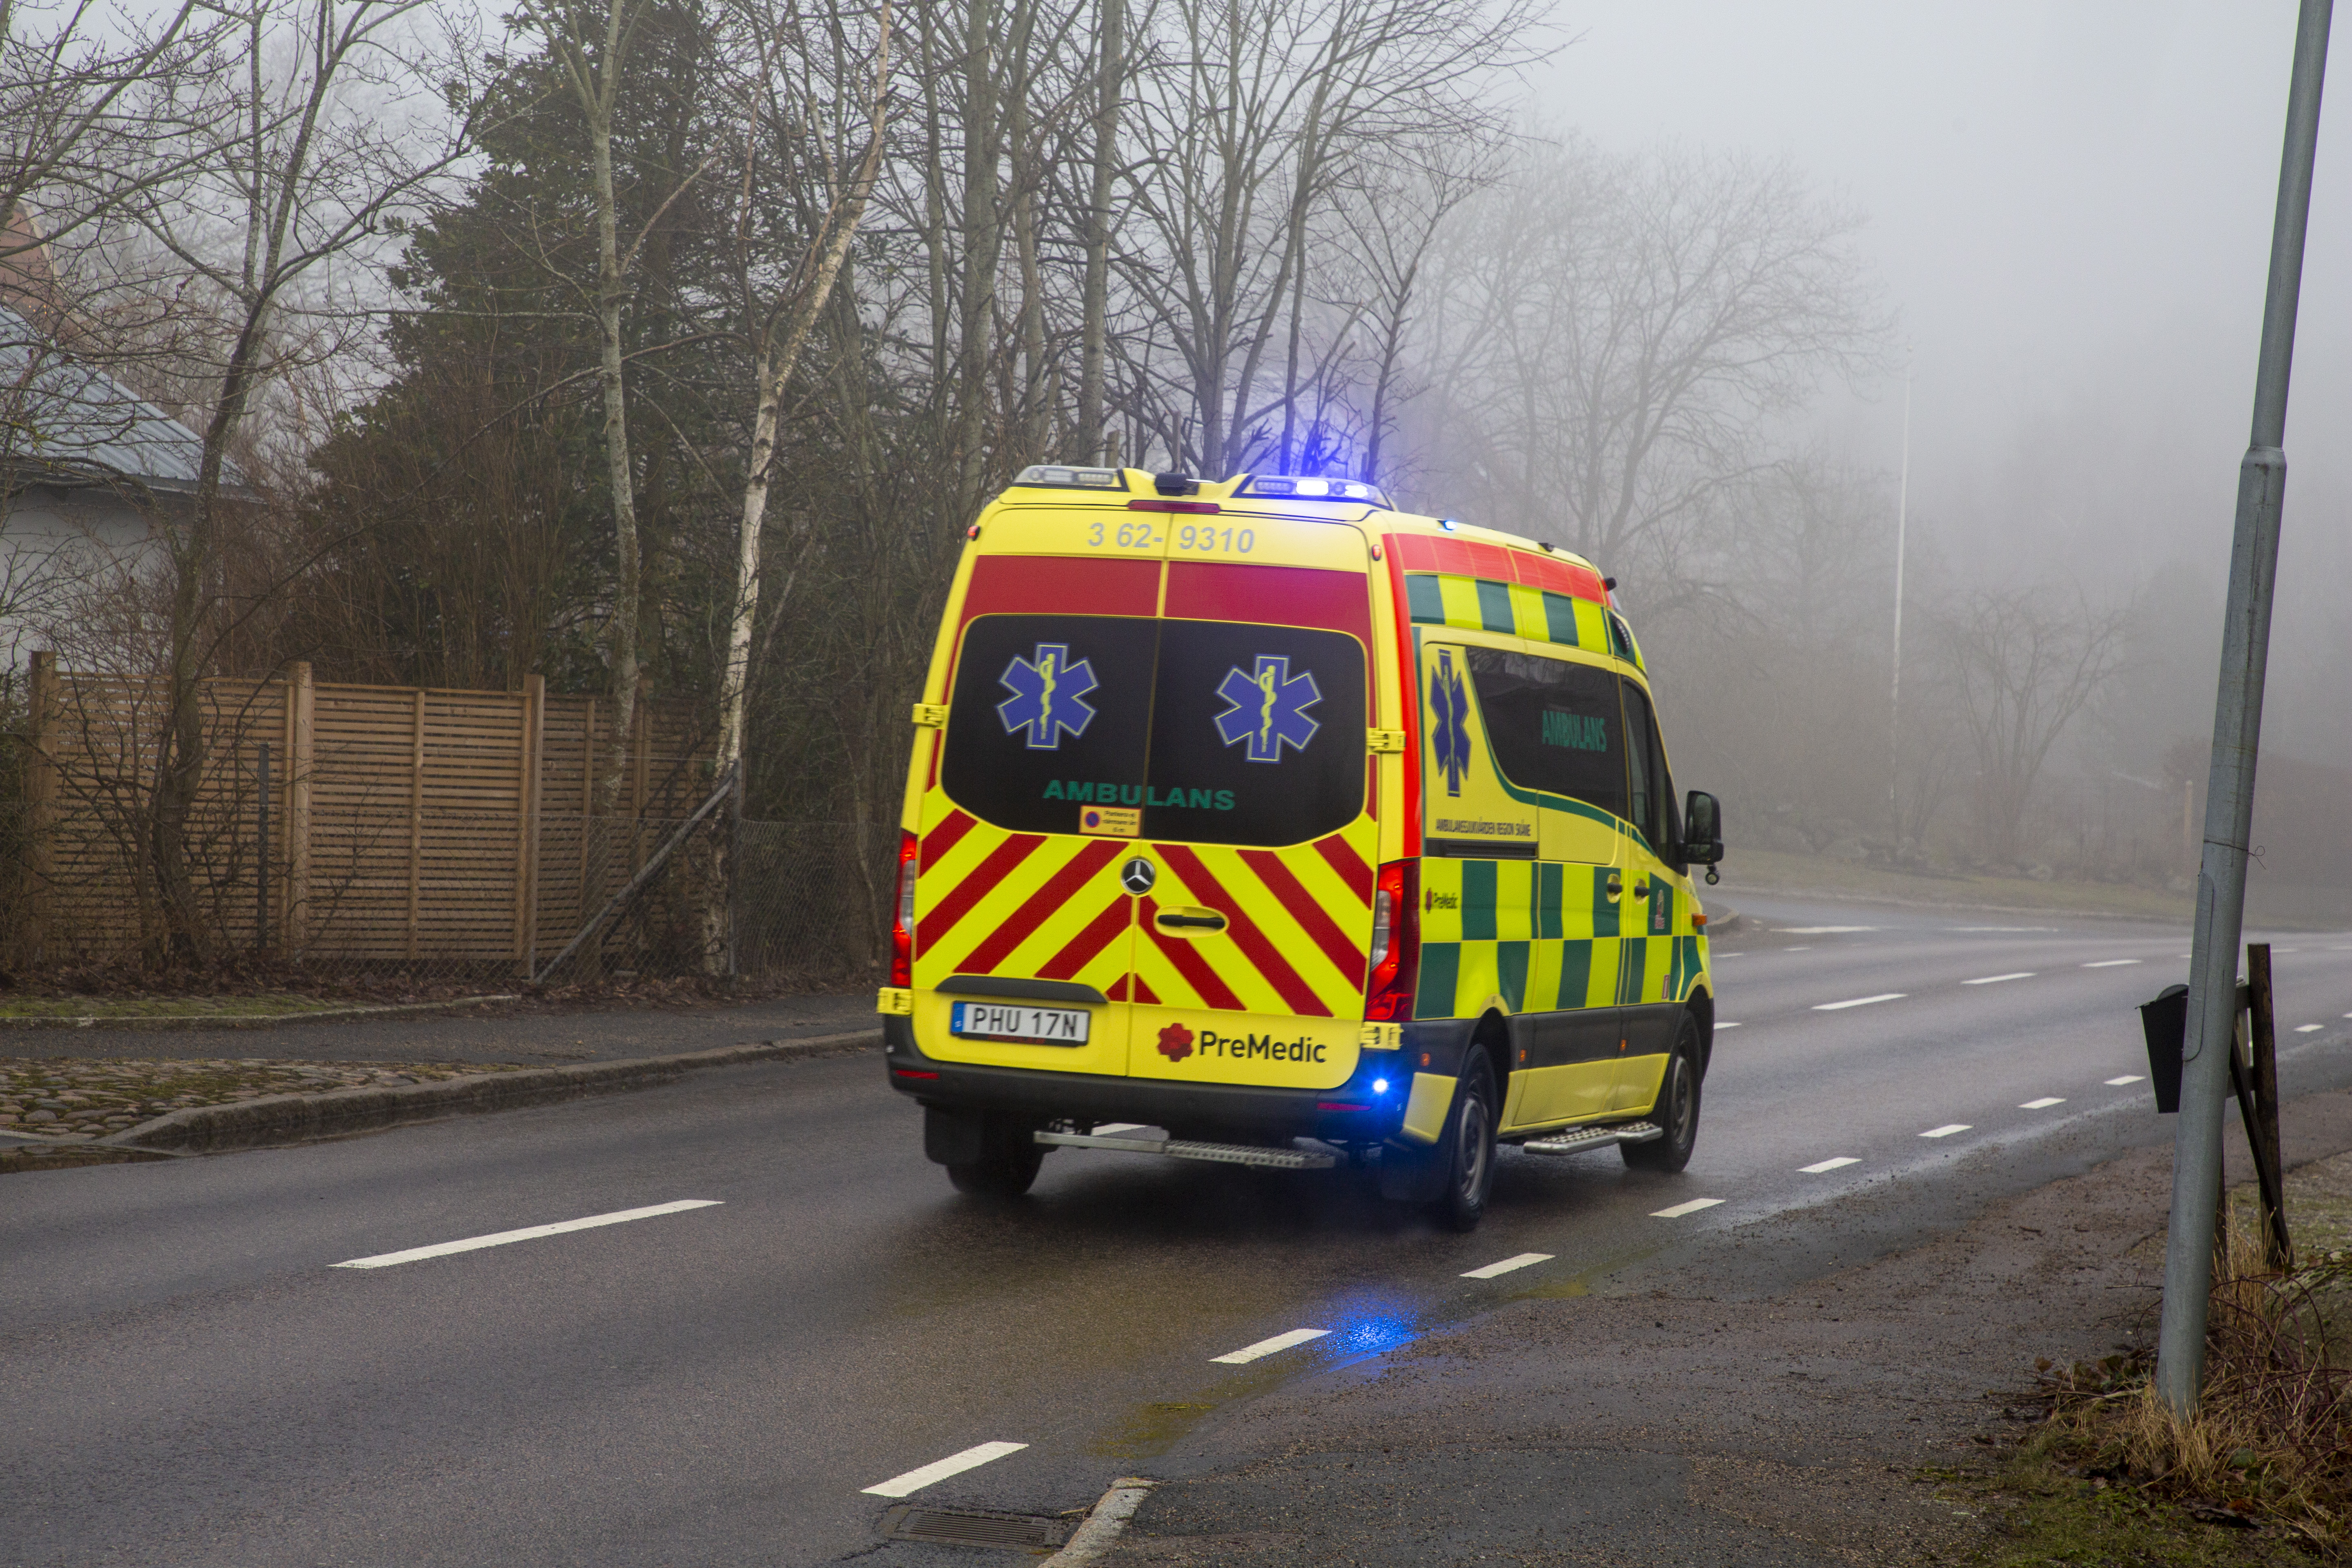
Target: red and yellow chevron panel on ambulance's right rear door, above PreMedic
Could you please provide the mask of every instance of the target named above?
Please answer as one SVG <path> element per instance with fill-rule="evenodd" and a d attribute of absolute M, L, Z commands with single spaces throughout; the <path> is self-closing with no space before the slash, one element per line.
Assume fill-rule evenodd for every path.
<path fill-rule="evenodd" d="M 1178 1009 L 1362 1016 L 1374 832 L 1371 818 L 1359 818 L 1279 851 L 1152 844 L 1160 884 L 1136 922 L 1136 985 Z M 1174 905 L 1216 910 L 1225 929 L 1162 931 L 1155 914 Z"/>

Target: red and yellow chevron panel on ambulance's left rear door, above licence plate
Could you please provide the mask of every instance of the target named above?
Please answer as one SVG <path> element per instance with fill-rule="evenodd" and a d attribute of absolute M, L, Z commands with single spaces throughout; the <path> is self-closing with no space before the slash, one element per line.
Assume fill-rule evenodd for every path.
<path fill-rule="evenodd" d="M 915 985 L 948 976 L 1127 978 L 1134 900 L 1120 889 L 1127 839 L 1004 832 L 938 797 L 915 877 Z M 927 813 L 929 816 L 929 813 Z"/>

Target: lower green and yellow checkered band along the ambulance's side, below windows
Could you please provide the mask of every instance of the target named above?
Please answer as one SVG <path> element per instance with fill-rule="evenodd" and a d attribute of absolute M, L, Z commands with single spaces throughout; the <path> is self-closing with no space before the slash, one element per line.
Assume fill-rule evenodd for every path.
<path fill-rule="evenodd" d="M 1649 900 L 1635 900 L 1628 884 L 1611 903 L 1609 872 L 1423 858 L 1414 1018 L 1477 1018 L 1491 997 L 1510 1013 L 1684 1001 L 1703 957 L 1700 938 L 1672 936 L 1689 924 L 1686 910 L 1675 907 L 1675 884 L 1651 879 Z M 1668 910 L 1658 922 L 1665 936 L 1646 936 L 1651 905 Z"/>

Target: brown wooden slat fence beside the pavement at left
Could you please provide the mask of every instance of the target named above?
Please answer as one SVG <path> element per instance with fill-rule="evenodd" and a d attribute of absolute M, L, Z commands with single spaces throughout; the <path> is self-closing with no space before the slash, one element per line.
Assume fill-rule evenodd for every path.
<path fill-rule="evenodd" d="M 160 922 L 134 875 L 153 832 L 160 684 L 59 670 L 31 682 L 40 961 L 122 959 Z M 285 679 L 202 684 L 205 780 L 188 827 L 195 905 L 221 950 L 524 969 L 569 940 L 710 790 L 694 712 L 637 703 L 614 816 L 597 816 L 612 703 Z M 261 842 L 261 750 L 270 757 Z M 266 872 L 263 872 L 266 860 Z"/>

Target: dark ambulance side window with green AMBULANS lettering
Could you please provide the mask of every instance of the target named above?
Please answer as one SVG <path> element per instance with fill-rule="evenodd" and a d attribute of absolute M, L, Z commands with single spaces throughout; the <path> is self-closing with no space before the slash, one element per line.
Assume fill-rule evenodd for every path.
<path fill-rule="evenodd" d="M 1486 743 L 1503 778 L 1625 816 L 1616 675 L 1503 649 L 1468 649 Z"/>

